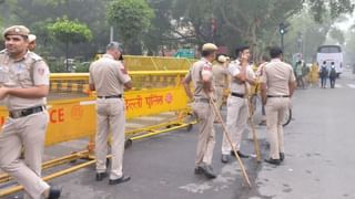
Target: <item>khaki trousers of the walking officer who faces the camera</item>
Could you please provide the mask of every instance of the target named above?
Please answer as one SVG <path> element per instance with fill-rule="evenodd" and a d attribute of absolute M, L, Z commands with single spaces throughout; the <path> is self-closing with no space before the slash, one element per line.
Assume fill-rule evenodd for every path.
<path fill-rule="evenodd" d="M 47 112 L 8 118 L 0 134 L 0 167 L 26 190 L 24 198 L 40 199 L 50 186 L 41 179 Z M 19 159 L 24 148 L 24 163 Z"/>

